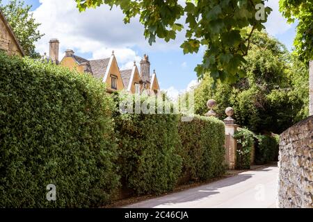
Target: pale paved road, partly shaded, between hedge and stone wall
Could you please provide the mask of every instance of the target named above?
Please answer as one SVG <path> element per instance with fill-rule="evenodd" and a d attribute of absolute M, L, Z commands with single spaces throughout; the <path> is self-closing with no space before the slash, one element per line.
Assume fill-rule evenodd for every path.
<path fill-rule="evenodd" d="M 272 208 L 276 207 L 277 191 L 278 167 L 268 166 L 126 207 Z"/>

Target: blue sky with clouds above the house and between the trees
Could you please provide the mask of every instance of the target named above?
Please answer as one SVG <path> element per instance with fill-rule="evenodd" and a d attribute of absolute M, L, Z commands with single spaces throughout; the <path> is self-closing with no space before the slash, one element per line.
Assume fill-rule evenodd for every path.
<path fill-rule="evenodd" d="M 79 12 L 74 0 L 24 1 L 32 6 L 33 17 L 41 24 L 39 30 L 45 33 L 35 44 L 40 54 L 49 53 L 51 38 L 60 41 L 60 59 L 66 49 L 73 49 L 76 55 L 87 59 L 107 58 L 114 50 L 120 69 L 130 68 L 134 60 L 139 65 L 146 53 L 151 72 L 156 70 L 159 85 L 169 96 L 175 97 L 197 82 L 193 69 L 201 63 L 203 50 L 184 55 L 179 47 L 184 40 L 183 32 L 177 35 L 176 40 L 157 40 L 150 46 L 143 37 L 143 26 L 138 18 L 124 24 L 124 16 L 119 8 L 109 10 L 108 6 L 101 6 Z M 269 0 L 266 3 L 273 9 L 266 22 L 266 31 L 291 50 L 296 24 L 287 24 L 278 10 L 278 1 Z"/>

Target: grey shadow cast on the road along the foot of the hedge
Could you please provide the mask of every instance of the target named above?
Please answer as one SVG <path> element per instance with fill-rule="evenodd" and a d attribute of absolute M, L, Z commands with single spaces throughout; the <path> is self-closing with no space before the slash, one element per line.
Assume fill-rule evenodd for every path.
<path fill-rule="evenodd" d="M 150 200 L 145 200 L 141 203 L 135 203 L 133 205 L 129 205 L 126 207 L 129 208 L 140 208 L 140 207 L 157 207 L 159 205 L 174 205 L 177 203 L 186 203 L 192 201 L 202 200 L 203 198 L 208 198 L 214 194 L 219 194 L 218 189 L 222 187 L 229 187 L 232 185 L 236 185 L 239 182 L 243 182 L 252 178 L 253 174 L 239 174 L 236 176 L 232 176 L 230 178 L 225 178 L 223 180 L 219 180 L 216 182 L 212 182 L 208 185 L 202 185 L 200 187 L 191 188 L 185 191 L 179 191 L 174 194 L 169 194 L 166 196 L 162 196 L 159 198 L 153 198 Z"/>

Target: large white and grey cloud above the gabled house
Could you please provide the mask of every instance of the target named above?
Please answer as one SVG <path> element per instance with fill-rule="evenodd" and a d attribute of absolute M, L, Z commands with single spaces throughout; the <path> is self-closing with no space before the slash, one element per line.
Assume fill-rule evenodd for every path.
<path fill-rule="evenodd" d="M 143 36 L 143 25 L 138 17 L 124 24 L 124 15 L 120 8 L 109 10 L 109 6 L 92 8 L 79 12 L 73 0 L 40 0 L 40 6 L 33 15 L 41 33 L 45 33 L 36 43 L 39 53 L 49 52 L 49 40 L 58 38 L 60 41 L 60 58 L 66 49 L 79 53 L 90 53 L 89 59 L 107 58 L 112 50 L 121 67 L 129 68 L 140 61 L 140 56 L 131 49 L 138 46 L 143 51 L 164 51 L 178 48 L 184 35 L 179 34 L 178 41 L 169 43 L 157 40 L 153 46 L 147 44 Z M 179 41 L 180 40 L 180 41 Z"/>

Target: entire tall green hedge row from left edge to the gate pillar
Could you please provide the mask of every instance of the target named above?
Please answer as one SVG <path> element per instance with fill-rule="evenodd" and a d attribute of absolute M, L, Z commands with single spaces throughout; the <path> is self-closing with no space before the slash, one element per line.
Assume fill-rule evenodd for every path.
<path fill-rule="evenodd" d="M 122 113 L 117 98 L 88 74 L 0 53 L 0 207 L 98 207 L 121 185 L 161 194 L 223 173 L 222 121 Z"/>

